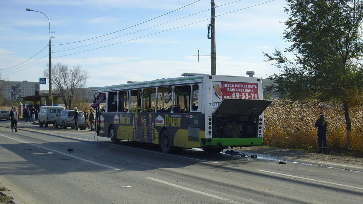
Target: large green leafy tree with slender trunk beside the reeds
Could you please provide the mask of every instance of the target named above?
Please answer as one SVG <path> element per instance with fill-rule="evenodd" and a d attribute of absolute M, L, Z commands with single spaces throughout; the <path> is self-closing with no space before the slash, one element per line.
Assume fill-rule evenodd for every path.
<path fill-rule="evenodd" d="M 289 18 L 284 39 L 291 42 L 285 57 L 275 49 L 264 53 L 281 74 L 269 77 L 265 91 L 286 94 L 292 101 L 343 104 L 347 146 L 351 146 L 350 110 L 362 105 L 363 1 L 287 0 Z"/>

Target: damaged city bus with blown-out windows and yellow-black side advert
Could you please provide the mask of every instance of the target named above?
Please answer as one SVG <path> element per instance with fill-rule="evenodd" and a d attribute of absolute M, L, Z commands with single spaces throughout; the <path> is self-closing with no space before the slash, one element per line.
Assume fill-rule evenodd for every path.
<path fill-rule="evenodd" d="M 262 79 L 182 74 L 179 78 L 100 87 L 95 94 L 98 137 L 159 144 L 164 153 L 261 145 Z"/>

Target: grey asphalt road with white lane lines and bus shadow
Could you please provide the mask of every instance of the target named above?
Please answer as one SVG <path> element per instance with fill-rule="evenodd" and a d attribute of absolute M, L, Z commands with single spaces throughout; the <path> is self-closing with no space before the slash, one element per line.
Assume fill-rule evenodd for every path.
<path fill-rule="evenodd" d="M 363 166 L 347 168 L 158 146 L 87 130 L 0 121 L 0 185 L 15 203 L 362 203 Z M 67 150 L 73 151 L 67 151 Z M 243 149 L 242 149 L 243 151 Z M 1 186 L 0 186 L 1 187 Z"/>

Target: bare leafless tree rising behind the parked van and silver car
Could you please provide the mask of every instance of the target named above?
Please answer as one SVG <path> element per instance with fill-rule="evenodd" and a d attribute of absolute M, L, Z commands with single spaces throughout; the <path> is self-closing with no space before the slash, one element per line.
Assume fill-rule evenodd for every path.
<path fill-rule="evenodd" d="M 49 70 L 44 69 L 43 74 L 49 77 Z M 79 65 L 69 68 L 66 64 L 57 63 L 52 66 L 52 83 L 54 89 L 64 93 L 63 101 L 66 109 L 72 108 L 74 96 L 80 88 L 85 88 L 88 78 L 89 72 Z"/>

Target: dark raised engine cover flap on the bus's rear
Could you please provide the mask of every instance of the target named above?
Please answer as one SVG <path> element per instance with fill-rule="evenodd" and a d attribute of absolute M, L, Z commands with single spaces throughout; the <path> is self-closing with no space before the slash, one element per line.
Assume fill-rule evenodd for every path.
<path fill-rule="evenodd" d="M 216 108 L 215 115 L 261 115 L 272 103 L 270 100 L 224 99 Z"/>

